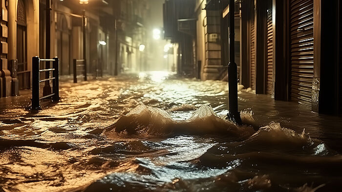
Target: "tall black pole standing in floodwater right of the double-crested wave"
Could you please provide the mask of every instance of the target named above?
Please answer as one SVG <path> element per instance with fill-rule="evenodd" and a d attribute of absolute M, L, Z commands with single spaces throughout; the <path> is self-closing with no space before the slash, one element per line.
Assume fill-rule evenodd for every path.
<path fill-rule="evenodd" d="M 235 64 L 235 12 L 234 0 L 229 0 L 229 52 L 230 62 L 228 64 L 228 86 L 229 86 L 229 120 L 241 124 L 240 112 L 237 110 L 237 66 Z"/>

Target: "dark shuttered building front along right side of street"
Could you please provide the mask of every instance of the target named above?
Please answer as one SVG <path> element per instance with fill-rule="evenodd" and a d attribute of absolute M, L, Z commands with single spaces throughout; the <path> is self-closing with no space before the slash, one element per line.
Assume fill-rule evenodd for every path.
<path fill-rule="evenodd" d="M 253 3 L 252 0 L 244 0 Z M 303 7 L 291 6 L 302 4 Z M 297 102 L 308 110 L 320 113 L 338 113 L 341 104 L 341 85 L 338 72 L 341 67 L 339 47 L 341 43 L 341 7 L 322 0 L 272 0 L 272 9 L 267 1 L 256 0 L 256 93 L 274 93 L 276 100 Z M 246 5 L 246 4 L 243 4 Z M 304 7 L 313 9 L 306 10 Z M 243 6 L 247 8 L 248 6 Z M 292 10 L 294 9 L 294 10 Z M 295 13 L 291 13 L 291 10 Z M 303 12 L 305 10 L 305 12 Z M 248 10 L 247 10 L 248 11 Z M 268 32 L 267 12 L 272 11 L 272 33 Z M 303 12 L 303 13 L 301 13 Z M 244 25 L 246 10 L 242 10 Z M 299 15 L 298 15 L 299 14 Z M 305 21 L 303 21 L 305 20 Z M 308 22 L 308 24 L 306 23 Z M 246 24 L 247 23 L 247 24 Z M 305 25 L 303 24 L 305 23 Z M 328 29 L 329 28 L 329 29 Z M 241 44 L 241 52 L 248 50 L 248 27 L 241 27 L 247 39 Z M 246 32 L 247 30 L 247 32 Z M 312 32 L 313 31 L 313 32 Z M 266 90 L 269 36 L 272 36 L 273 90 Z M 248 51 L 247 51 L 248 52 Z M 242 68 L 248 68 L 248 61 Z M 244 73 L 248 74 L 248 73 Z M 242 75 L 242 81 L 249 76 Z M 310 81 L 311 80 L 311 81 Z M 339 95 L 340 94 L 340 95 Z M 340 111 L 341 112 L 341 111 Z"/>

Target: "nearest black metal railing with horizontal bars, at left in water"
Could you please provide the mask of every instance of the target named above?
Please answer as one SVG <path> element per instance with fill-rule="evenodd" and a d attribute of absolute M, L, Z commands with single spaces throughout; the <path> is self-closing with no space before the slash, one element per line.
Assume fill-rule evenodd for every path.
<path fill-rule="evenodd" d="M 40 69 L 41 62 L 52 62 L 52 68 Z M 51 72 L 52 77 L 41 80 L 40 74 L 42 72 Z M 50 74 L 50 73 L 49 73 Z M 52 93 L 43 97 L 39 96 L 40 83 L 52 81 Z M 39 110 L 41 106 L 39 101 L 42 99 L 51 98 L 52 101 L 57 102 L 60 100 L 59 96 L 59 59 L 40 59 L 39 57 L 32 58 L 32 110 Z"/>

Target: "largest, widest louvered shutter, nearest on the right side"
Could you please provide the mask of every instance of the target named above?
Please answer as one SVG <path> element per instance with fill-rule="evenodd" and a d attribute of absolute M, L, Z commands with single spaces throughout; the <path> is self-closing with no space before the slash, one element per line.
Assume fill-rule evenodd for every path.
<path fill-rule="evenodd" d="M 290 0 L 291 100 L 311 106 L 314 76 L 314 1 Z"/>

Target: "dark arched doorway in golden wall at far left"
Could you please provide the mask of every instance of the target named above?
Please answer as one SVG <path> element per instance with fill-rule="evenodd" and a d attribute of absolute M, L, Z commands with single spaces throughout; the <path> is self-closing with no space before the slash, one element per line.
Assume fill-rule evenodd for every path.
<path fill-rule="evenodd" d="M 26 8 L 23 0 L 17 7 L 17 59 L 19 88 L 30 88 L 30 71 L 27 68 L 27 23 Z"/>

